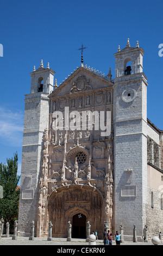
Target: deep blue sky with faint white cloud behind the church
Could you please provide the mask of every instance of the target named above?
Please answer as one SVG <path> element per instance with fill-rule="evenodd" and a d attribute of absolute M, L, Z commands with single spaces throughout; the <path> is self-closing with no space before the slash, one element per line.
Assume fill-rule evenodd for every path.
<path fill-rule="evenodd" d="M 30 93 L 30 72 L 41 59 L 49 62 L 58 84 L 84 64 L 115 77 L 118 45 L 127 38 L 145 51 L 143 71 L 148 78 L 147 117 L 163 130 L 162 1 L 0 0 L 0 162 L 18 152 L 21 168 L 24 94 Z"/>

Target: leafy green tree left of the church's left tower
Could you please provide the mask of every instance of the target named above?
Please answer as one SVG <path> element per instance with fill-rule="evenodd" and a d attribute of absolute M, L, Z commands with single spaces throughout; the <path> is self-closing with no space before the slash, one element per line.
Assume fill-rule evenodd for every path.
<path fill-rule="evenodd" d="M 17 175 L 18 156 L 7 159 L 7 164 L 0 163 L 0 185 L 3 187 L 3 198 L 0 199 L 0 218 L 14 222 L 18 217 L 20 189 L 17 189 L 20 176 Z"/>

